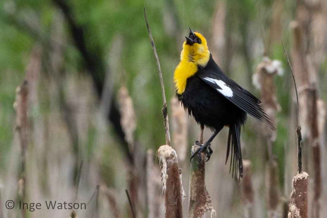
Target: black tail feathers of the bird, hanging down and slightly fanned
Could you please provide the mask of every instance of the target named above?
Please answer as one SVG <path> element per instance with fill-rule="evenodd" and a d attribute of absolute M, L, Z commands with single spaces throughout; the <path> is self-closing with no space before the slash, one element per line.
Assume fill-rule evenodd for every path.
<path fill-rule="evenodd" d="M 240 134 L 241 134 L 240 124 L 234 124 L 233 126 L 229 127 L 225 164 L 227 163 L 229 153 L 231 150 L 231 165 L 229 171 L 230 173 L 232 173 L 232 177 L 234 177 L 236 180 L 237 178 L 239 179 L 242 178 L 243 176 L 243 161 L 242 161 Z"/>

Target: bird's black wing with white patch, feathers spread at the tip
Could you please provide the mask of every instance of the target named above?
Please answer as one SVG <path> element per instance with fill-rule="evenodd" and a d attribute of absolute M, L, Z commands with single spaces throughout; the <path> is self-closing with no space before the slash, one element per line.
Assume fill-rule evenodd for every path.
<path fill-rule="evenodd" d="M 252 117 L 267 123 L 272 130 L 276 130 L 276 127 L 262 108 L 262 102 L 248 90 L 227 77 L 212 59 L 211 55 L 208 64 L 204 68 L 199 68 L 197 75 L 237 107 Z"/>

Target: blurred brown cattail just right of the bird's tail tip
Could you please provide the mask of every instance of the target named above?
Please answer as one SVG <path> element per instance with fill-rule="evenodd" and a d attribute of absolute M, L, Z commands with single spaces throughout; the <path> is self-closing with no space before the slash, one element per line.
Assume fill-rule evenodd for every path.
<path fill-rule="evenodd" d="M 254 194 L 252 188 L 252 171 L 250 160 L 243 160 L 242 195 L 244 204 L 244 218 L 254 217 Z"/>

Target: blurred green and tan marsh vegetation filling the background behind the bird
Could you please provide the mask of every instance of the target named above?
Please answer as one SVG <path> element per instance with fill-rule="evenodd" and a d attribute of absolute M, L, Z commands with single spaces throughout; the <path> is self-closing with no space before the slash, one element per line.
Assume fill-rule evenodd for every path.
<path fill-rule="evenodd" d="M 173 72 L 188 27 L 207 38 L 209 49 L 223 71 L 258 97 L 260 92 L 252 84 L 257 65 L 264 56 L 281 61 L 284 74 L 274 78 L 281 111 L 276 114 L 278 132 L 272 151 L 278 162 L 279 195 L 288 196 L 296 173 L 295 128 L 291 122 L 296 115 L 293 83 L 281 41 L 290 55 L 294 44 L 290 24 L 297 17 L 300 4 L 309 4 L 311 12 L 322 14 L 322 24 L 316 28 L 317 54 L 320 52 L 316 61 L 317 88 L 318 98 L 326 102 L 327 4 L 323 0 L 201 3 L 194 0 L 0 0 L 1 202 L 19 199 L 20 142 L 15 131 L 13 103 L 16 88 L 27 80 L 35 89 L 34 94 L 30 92 L 27 111 L 25 201 L 89 202 L 92 210 L 78 210 L 78 217 L 129 217 L 125 194 L 128 189 L 131 195 L 135 194 L 132 199 L 138 217 L 147 217 L 146 151 L 152 149 L 155 153 L 165 143 L 165 137 L 162 93 L 144 21 L 144 7 L 168 100 L 175 96 Z M 122 87 L 127 88 L 135 113 L 132 116 L 135 131 L 133 123 L 127 125 L 131 128 L 130 139 L 120 122 Z M 170 101 L 168 110 L 171 113 Z M 260 129 L 261 124 L 249 118 L 242 131 L 242 145 L 244 158 L 252 162 L 255 217 L 267 217 L 265 164 L 268 154 Z M 198 130 L 198 125 L 189 117 L 186 160 Z M 226 135 L 223 130 L 212 143 L 215 153 L 207 163 L 207 189 L 218 217 L 240 217 L 243 210 L 239 206 L 239 184 L 232 180 L 229 167 L 224 165 Z M 210 131 L 205 130 L 204 138 L 208 136 Z M 322 166 L 326 165 L 324 142 L 321 143 Z M 304 155 L 308 156 L 303 161 L 304 170 L 310 175 L 311 154 Z M 188 161 L 182 169 L 187 193 Z M 325 200 L 326 169 L 322 167 L 321 171 L 324 178 L 321 199 Z M 98 184 L 97 203 L 90 199 Z M 159 198 L 161 190 L 156 191 Z M 183 206 L 186 216 L 187 200 Z M 1 207 L 3 217 L 22 216 L 18 209 Z M 326 216 L 326 209 L 321 210 L 321 217 Z M 38 210 L 27 211 L 23 216 L 69 217 L 70 213 L 70 210 Z"/>

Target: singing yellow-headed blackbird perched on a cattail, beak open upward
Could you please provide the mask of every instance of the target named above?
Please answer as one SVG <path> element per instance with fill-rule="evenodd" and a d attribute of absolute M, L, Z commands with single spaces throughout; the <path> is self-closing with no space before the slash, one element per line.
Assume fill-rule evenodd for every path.
<path fill-rule="evenodd" d="M 210 143 L 218 132 L 229 127 L 226 162 L 231 150 L 232 174 L 242 177 L 241 125 L 247 113 L 267 123 L 276 130 L 261 102 L 249 91 L 227 77 L 215 63 L 207 46 L 207 40 L 190 28 L 181 51 L 181 62 L 174 72 L 176 94 L 184 109 L 193 115 L 203 128 L 209 127 L 214 134 L 191 156 L 204 152 L 208 159 L 212 154 Z M 237 167 L 238 165 L 238 167 Z"/>

